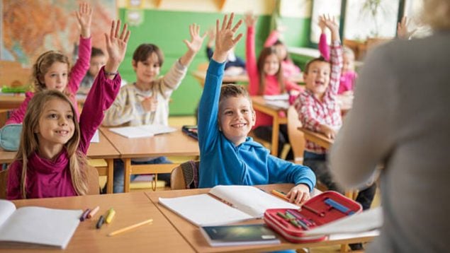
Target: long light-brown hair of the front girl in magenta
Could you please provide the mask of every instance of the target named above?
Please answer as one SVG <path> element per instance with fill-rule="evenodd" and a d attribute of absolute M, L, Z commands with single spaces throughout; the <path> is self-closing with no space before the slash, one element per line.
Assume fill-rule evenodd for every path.
<path fill-rule="evenodd" d="M 75 114 L 74 106 L 72 102 L 67 98 L 66 95 L 58 90 L 43 90 L 41 92 L 35 93 L 33 98 L 28 104 L 28 108 L 23 119 L 23 129 L 21 133 L 21 143 L 18 148 L 15 160 L 22 161 L 22 173 L 21 173 L 21 194 L 22 198 L 26 199 L 26 175 L 28 170 L 33 170 L 33 167 L 28 167 L 28 158 L 33 153 L 36 153 L 39 149 L 38 135 L 35 133 L 35 129 L 38 129 L 39 119 L 43 115 L 43 108 L 45 104 L 54 99 L 59 99 L 67 102 L 72 108 L 72 113 Z M 72 178 L 72 185 L 78 195 L 85 195 L 88 191 L 87 187 L 87 172 L 83 170 L 86 167 L 87 161 L 84 153 L 78 151 L 80 131 L 79 123 L 76 116 L 73 118 L 74 121 L 74 135 L 72 138 L 64 144 L 64 148 L 67 151 L 69 157 L 69 170 L 70 176 Z"/>

